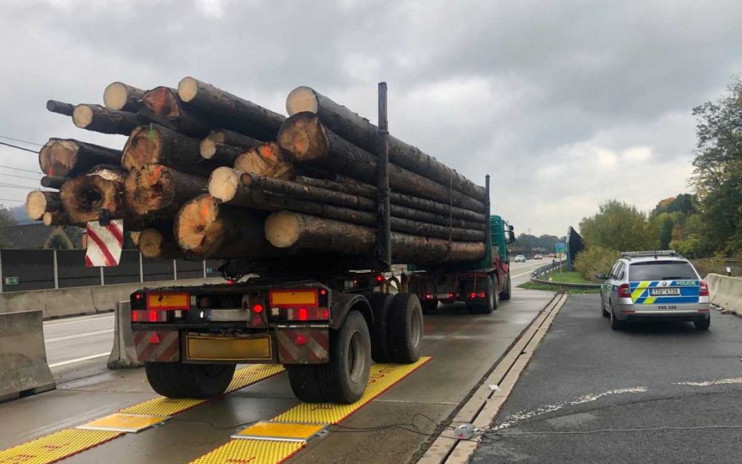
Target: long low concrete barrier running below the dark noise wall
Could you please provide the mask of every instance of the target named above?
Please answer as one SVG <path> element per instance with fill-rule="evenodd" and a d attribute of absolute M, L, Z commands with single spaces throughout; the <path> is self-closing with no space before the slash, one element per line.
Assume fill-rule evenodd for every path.
<path fill-rule="evenodd" d="M 98 285 L 95 287 L 61 288 L 59 290 L 0 293 L 0 313 L 42 310 L 45 319 L 107 313 L 114 310 L 117 301 L 128 300 L 131 293 L 142 287 L 217 284 L 223 281 L 223 278 L 211 277 L 180 281 L 145 282 L 143 284 Z"/>

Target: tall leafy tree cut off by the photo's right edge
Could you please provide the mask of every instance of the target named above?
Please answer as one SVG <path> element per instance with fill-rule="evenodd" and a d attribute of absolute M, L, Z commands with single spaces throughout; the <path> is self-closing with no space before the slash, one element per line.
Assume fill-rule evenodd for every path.
<path fill-rule="evenodd" d="M 729 94 L 693 108 L 697 146 L 692 183 L 715 251 L 742 250 L 742 78 Z"/>

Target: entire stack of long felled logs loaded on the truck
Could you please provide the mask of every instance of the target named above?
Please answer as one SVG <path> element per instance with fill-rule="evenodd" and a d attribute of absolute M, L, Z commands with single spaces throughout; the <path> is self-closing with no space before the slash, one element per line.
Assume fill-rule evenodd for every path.
<path fill-rule="evenodd" d="M 289 117 L 192 77 L 149 91 L 114 82 L 104 105 L 50 100 L 79 128 L 123 134 L 122 149 L 52 138 L 39 151 L 47 191 L 26 209 L 84 226 L 103 209 L 136 231 L 147 258 L 370 255 L 376 242 L 377 128 L 307 87 Z M 485 255 L 485 189 L 389 137 L 393 261 Z"/>

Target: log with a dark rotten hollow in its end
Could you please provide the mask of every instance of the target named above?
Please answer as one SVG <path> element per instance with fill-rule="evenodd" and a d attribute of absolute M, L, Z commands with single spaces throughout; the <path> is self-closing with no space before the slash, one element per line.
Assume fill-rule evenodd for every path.
<path fill-rule="evenodd" d="M 98 220 L 98 212 L 104 208 L 111 213 L 111 218 L 125 218 L 124 176 L 124 171 L 113 166 L 99 166 L 65 182 L 59 196 L 70 222 Z"/>

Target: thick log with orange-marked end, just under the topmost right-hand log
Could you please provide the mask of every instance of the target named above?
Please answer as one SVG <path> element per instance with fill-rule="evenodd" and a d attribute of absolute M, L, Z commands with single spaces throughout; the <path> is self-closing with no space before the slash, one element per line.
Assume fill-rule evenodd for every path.
<path fill-rule="evenodd" d="M 376 157 L 321 125 L 316 114 L 303 112 L 281 125 L 278 144 L 298 163 L 312 163 L 364 182 L 375 182 Z M 427 177 L 390 164 L 389 185 L 397 192 L 484 212 L 485 205 Z"/>

